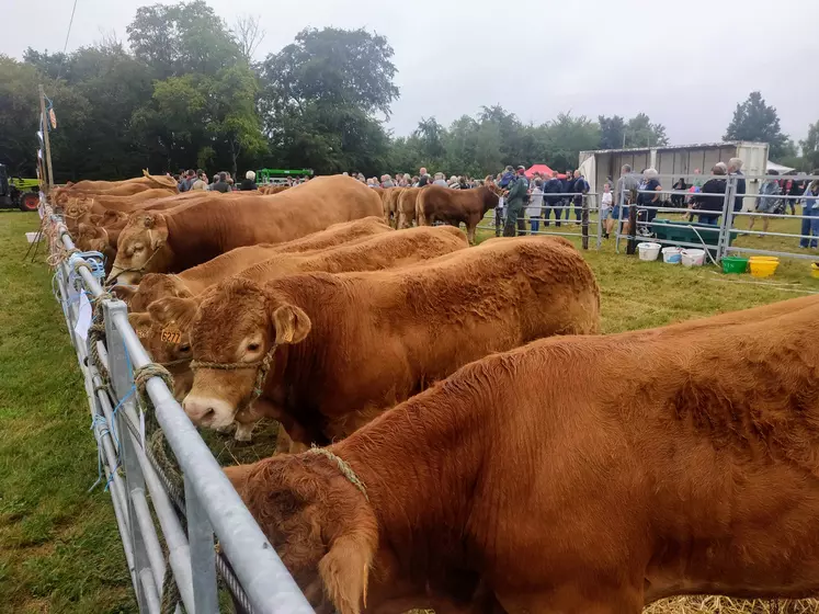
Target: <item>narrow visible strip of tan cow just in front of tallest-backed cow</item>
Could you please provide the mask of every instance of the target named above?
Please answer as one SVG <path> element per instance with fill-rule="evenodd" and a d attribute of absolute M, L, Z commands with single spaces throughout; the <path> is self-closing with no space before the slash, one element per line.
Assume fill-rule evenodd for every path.
<path fill-rule="evenodd" d="M 195 296 L 221 280 L 280 253 L 314 252 L 350 246 L 390 230 L 378 217 L 333 224 L 327 230 L 312 232 L 294 241 L 236 248 L 193 269 L 182 271 L 179 275 L 148 273 L 134 292 L 117 289 L 118 286 L 115 289 L 117 295 L 127 297 L 133 311 L 144 311 L 150 303 L 163 296 Z"/>

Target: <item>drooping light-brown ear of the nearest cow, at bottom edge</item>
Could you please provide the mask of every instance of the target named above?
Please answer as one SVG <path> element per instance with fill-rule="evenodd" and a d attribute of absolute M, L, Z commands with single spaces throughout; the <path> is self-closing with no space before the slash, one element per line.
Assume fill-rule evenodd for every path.
<path fill-rule="evenodd" d="M 325 591 L 340 614 L 360 614 L 367 605 L 367 579 L 375 555 L 367 539 L 355 532 L 335 538 L 319 561 Z"/>

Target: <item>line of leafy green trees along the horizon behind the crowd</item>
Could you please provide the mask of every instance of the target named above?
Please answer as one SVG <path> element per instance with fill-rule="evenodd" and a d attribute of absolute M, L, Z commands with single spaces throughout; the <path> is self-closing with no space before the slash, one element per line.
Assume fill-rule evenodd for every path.
<path fill-rule="evenodd" d="M 204 0 L 137 9 L 128 45 L 105 37 L 71 54 L 29 48 L 0 56 L 0 162 L 33 177 L 37 83 L 57 114 L 57 181 L 203 168 L 311 168 L 317 173 L 411 172 L 420 167 L 482 177 L 504 164 L 573 168 L 589 149 L 668 145 L 666 127 L 640 113 L 596 120 L 561 113 L 535 125 L 481 106 L 450 126 L 422 117 L 409 136 L 385 126 L 398 99 L 393 48 L 363 29 L 307 29 L 253 61 L 258 19 L 230 26 Z M 771 157 L 819 167 L 819 122 L 796 144 L 759 92 L 737 105 L 725 139 L 764 140 Z"/>

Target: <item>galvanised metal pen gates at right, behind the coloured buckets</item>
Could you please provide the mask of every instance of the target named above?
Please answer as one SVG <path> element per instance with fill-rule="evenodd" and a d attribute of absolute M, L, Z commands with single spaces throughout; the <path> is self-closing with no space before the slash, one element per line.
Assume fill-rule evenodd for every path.
<path fill-rule="evenodd" d="M 634 175 L 639 178 L 639 175 Z M 817 254 L 798 252 L 799 243 L 807 242 L 810 247 L 811 241 L 819 242 L 819 201 L 817 196 L 806 193 L 812 181 L 819 180 L 819 175 L 687 175 L 683 179 L 693 178 L 698 184 L 704 185 L 712 179 L 725 180 L 726 189 L 724 193 L 704 194 L 692 193 L 680 190 L 658 190 L 647 192 L 636 190 L 635 193 L 628 194 L 622 191 L 619 198 L 625 203 L 618 209 L 618 217 L 615 228 L 615 250 L 621 251 L 621 242 L 626 241 L 626 252 L 634 253 L 638 241 L 650 240 L 661 245 L 705 249 L 708 260 L 717 263 L 723 258 L 731 254 L 758 254 L 775 255 L 782 258 L 795 258 L 804 260 L 818 260 Z M 742 179 L 748 185 L 751 182 L 758 182 L 760 186 L 769 182 L 797 181 L 800 184 L 798 194 L 788 195 L 781 193 L 760 193 L 754 194 L 753 211 L 747 211 L 747 201 L 750 196 L 737 190 L 739 180 Z M 660 184 L 673 182 L 670 175 L 659 175 Z M 692 181 L 693 183 L 693 181 Z M 659 195 L 656 204 L 637 204 L 632 201 L 638 200 L 636 195 Z M 703 209 L 697 204 L 697 197 L 719 198 L 721 207 L 719 209 Z M 671 206 L 666 196 L 676 197 L 684 203 L 682 206 Z M 738 202 L 742 203 L 744 209 L 736 209 Z M 785 211 L 778 213 L 766 213 L 765 209 L 777 209 L 785 205 Z M 801 215 L 796 215 L 796 207 L 804 206 Z M 787 206 L 790 206 L 792 213 L 787 214 Z M 660 214 L 682 215 L 683 219 L 670 220 L 658 218 Z M 767 230 L 736 228 L 735 225 L 739 219 L 761 218 L 765 219 L 787 219 L 800 220 L 801 229 L 799 234 L 794 232 L 775 232 Z M 764 224 L 764 223 L 763 223 Z M 765 227 L 767 225 L 764 225 Z M 684 229 L 693 240 L 685 241 L 672 237 L 676 231 Z M 733 240 L 742 235 L 758 235 L 760 238 L 765 237 L 785 237 L 794 239 L 794 251 L 783 251 L 775 249 L 760 249 L 751 247 L 736 247 Z M 798 243 L 797 243 L 798 240 Z"/>

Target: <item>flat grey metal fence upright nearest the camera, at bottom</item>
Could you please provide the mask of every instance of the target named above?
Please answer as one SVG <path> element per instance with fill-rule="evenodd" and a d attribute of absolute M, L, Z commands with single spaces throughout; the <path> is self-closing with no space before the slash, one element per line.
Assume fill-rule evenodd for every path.
<path fill-rule="evenodd" d="M 195 614 L 216 614 L 219 611 L 219 603 L 216 592 L 216 550 L 214 549 L 213 527 L 187 477 L 185 477 L 185 518 L 187 519 L 187 544 L 191 548 Z"/>

